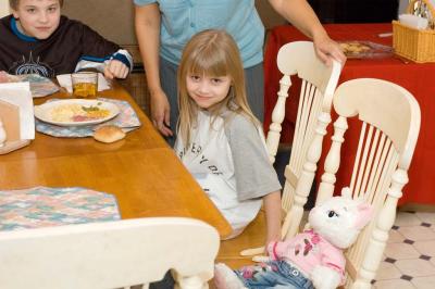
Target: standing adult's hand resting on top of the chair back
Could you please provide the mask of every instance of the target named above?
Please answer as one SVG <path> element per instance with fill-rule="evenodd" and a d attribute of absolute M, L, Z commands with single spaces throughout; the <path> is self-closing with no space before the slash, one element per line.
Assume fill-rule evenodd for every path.
<path fill-rule="evenodd" d="M 336 60 L 341 63 L 341 66 L 346 62 L 345 53 L 337 42 L 332 40 L 327 35 L 322 37 L 314 37 L 314 49 L 318 58 L 322 60 L 327 66 L 332 65 L 332 60 Z"/>

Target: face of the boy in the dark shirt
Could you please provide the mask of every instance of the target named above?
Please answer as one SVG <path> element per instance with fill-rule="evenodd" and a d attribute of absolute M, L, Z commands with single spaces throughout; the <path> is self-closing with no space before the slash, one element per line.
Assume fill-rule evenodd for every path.
<path fill-rule="evenodd" d="M 23 34 L 47 39 L 59 26 L 61 7 L 59 0 L 20 0 L 13 15 Z"/>

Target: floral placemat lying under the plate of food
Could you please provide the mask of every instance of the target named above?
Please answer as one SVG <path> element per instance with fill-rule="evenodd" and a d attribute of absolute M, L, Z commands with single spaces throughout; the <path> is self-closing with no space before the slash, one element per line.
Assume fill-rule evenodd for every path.
<path fill-rule="evenodd" d="M 132 108 L 132 105 L 129 105 L 127 101 L 107 99 L 107 98 L 97 98 L 97 99 L 116 104 L 117 108 L 120 109 L 120 114 L 111 121 L 92 126 L 58 126 L 35 118 L 35 128 L 39 133 L 50 135 L 53 137 L 83 138 L 83 137 L 91 137 L 94 135 L 94 130 L 96 130 L 99 126 L 104 126 L 104 125 L 119 126 L 125 133 L 132 131 L 140 127 L 139 117 L 137 116 L 135 110 Z M 57 99 L 51 99 L 49 101 L 55 101 L 55 100 Z"/>

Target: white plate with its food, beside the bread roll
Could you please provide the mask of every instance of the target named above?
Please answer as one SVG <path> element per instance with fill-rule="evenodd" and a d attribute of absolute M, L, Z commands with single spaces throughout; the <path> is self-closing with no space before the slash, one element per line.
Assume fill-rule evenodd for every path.
<path fill-rule="evenodd" d="M 119 113 L 116 104 L 90 99 L 64 99 L 35 105 L 35 117 L 59 126 L 96 125 Z"/>

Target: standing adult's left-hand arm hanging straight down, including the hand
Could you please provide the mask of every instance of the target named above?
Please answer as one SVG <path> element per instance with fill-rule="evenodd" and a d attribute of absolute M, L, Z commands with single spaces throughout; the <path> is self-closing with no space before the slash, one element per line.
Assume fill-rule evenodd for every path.
<path fill-rule="evenodd" d="M 162 135 L 170 136 L 170 103 L 159 76 L 160 21 L 157 3 L 135 5 L 136 37 L 151 95 L 151 121 Z"/>

